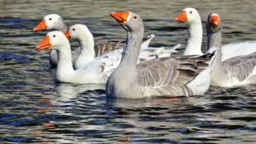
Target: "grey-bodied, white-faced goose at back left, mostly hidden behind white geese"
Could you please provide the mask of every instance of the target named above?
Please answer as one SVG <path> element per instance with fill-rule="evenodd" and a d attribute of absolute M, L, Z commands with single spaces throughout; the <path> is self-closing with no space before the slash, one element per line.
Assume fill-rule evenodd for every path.
<path fill-rule="evenodd" d="M 58 31 L 62 31 L 62 33 L 66 33 L 68 31 L 68 28 L 66 24 L 64 24 L 64 20 L 61 16 L 58 14 L 48 14 L 43 18 L 43 20 L 37 24 L 33 28 L 33 31 L 41 31 L 45 29 L 54 29 Z M 148 36 L 148 38 L 144 41 L 143 45 L 144 47 L 148 47 L 150 44 L 150 41 L 155 37 L 154 34 Z M 108 41 L 105 43 L 97 43 L 95 48 L 95 57 L 98 58 L 98 56 L 101 56 L 102 54 L 106 54 L 112 50 L 116 50 L 119 48 L 123 48 L 124 42 L 122 41 Z M 79 56 L 79 52 L 81 50 L 81 46 L 78 48 L 75 48 L 75 50 L 72 50 L 72 63 L 75 63 L 75 60 Z M 49 55 L 49 62 L 51 67 L 56 67 L 58 63 L 58 55 L 56 50 L 51 50 Z"/>

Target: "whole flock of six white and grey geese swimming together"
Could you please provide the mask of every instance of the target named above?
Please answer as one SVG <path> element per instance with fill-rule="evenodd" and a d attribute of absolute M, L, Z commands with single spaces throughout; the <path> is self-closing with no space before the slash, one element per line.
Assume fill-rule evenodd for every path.
<path fill-rule="evenodd" d="M 82 24 L 70 29 L 58 14 L 49 14 L 33 31 L 47 33 L 37 50 L 50 49 L 49 62 L 56 67 L 55 80 L 68 83 L 106 83 L 106 96 L 146 98 L 151 96 L 202 95 L 209 86 L 230 87 L 256 82 L 256 41 L 221 45 L 220 16 L 209 14 L 207 52 L 202 53 L 202 22 L 196 9 L 186 8 L 175 18 L 188 26 L 188 43 L 180 57 L 173 48 L 149 47 L 150 35 L 143 41 L 142 18 L 133 12 L 111 12 L 127 31 L 126 41 L 95 43 Z M 68 39 L 77 39 L 71 50 Z"/>

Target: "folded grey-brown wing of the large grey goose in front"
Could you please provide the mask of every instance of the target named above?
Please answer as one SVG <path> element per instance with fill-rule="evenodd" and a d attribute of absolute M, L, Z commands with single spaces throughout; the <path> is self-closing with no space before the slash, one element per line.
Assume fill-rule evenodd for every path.
<path fill-rule="evenodd" d="M 142 91 L 159 96 L 192 96 L 186 84 L 207 68 L 210 58 L 158 58 L 137 65 Z"/>

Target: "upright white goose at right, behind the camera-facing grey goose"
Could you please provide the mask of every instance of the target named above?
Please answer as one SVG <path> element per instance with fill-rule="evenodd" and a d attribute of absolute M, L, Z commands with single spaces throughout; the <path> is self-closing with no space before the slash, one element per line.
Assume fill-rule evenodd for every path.
<path fill-rule="evenodd" d="M 175 18 L 176 21 L 184 22 L 188 26 L 188 44 L 183 52 L 183 56 L 186 55 L 202 55 L 202 22 L 198 10 L 194 8 L 183 9 L 181 14 Z M 224 62 L 229 58 L 236 56 L 251 54 L 256 51 L 256 41 L 245 41 L 239 43 L 230 43 L 223 45 L 223 56 L 221 61 Z"/>

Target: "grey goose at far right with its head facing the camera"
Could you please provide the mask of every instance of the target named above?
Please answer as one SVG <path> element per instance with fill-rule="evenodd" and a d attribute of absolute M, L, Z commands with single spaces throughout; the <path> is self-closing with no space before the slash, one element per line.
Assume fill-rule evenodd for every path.
<path fill-rule="evenodd" d="M 222 24 L 219 14 L 209 14 L 205 27 L 208 34 L 208 47 L 211 46 L 212 37 L 221 41 Z M 211 27 L 215 27 L 216 30 L 212 31 Z M 221 43 L 219 44 L 221 46 Z M 256 52 L 229 58 L 222 62 L 222 48 L 219 49 L 221 52 L 217 52 L 216 63 L 212 71 L 211 85 L 230 87 L 256 83 Z"/>

